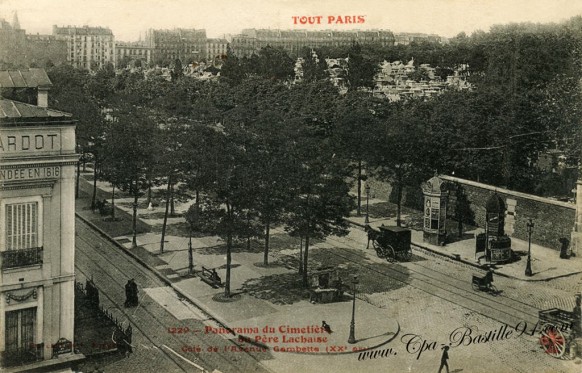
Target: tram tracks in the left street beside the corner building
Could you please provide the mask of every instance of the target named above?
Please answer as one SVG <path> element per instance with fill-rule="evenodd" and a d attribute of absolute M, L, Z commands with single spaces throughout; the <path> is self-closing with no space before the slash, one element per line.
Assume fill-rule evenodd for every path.
<path fill-rule="evenodd" d="M 79 222 L 79 220 L 77 220 Z M 119 294 L 123 294 L 123 289 L 124 289 L 124 284 L 121 283 L 117 278 L 127 278 L 128 276 L 128 272 L 123 273 L 122 270 L 123 268 L 119 268 L 121 263 L 127 264 L 129 267 L 131 267 L 131 270 L 133 274 L 138 273 L 140 276 L 134 276 L 136 278 L 136 281 L 138 283 L 141 284 L 146 284 L 146 283 L 150 283 L 150 284 L 156 284 L 158 286 L 166 286 L 166 284 L 163 284 L 160 279 L 157 277 L 157 275 L 155 275 L 154 273 L 152 273 L 151 271 L 148 271 L 146 268 L 143 268 L 140 264 L 132 261 L 132 260 L 127 260 L 127 257 L 124 256 L 121 252 L 116 252 L 115 250 L 109 250 L 107 252 L 107 254 L 111 257 L 109 257 L 108 255 L 105 255 L 104 252 L 102 252 L 102 250 L 96 249 L 96 246 L 98 247 L 107 247 L 107 245 L 111 245 L 110 242 L 108 242 L 107 240 L 105 240 L 103 237 L 100 237 L 99 235 L 96 234 L 96 232 L 94 232 L 89 226 L 86 226 L 85 223 L 83 223 L 83 225 L 85 226 L 85 228 L 81 228 L 81 224 L 77 224 L 77 242 L 82 242 L 82 245 L 79 245 L 79 243 L 76 244 L 77 246 L 77 255 L 79 256 L 79 259 L 84 261 L 85 263 L 90 263 L 89 266 L 93 266 L 95 269 L 97 269 L 97 271 L 93 271 L 90 275 L 85 271 L 79 268 L 79 266 L 76 265 L 76 269 L 79 273 L 81 273 L 83 276 L 85 276 L 85 278 L 89 279 L 89 278 L 95 278 L 97 277 L 99 280 L 95 281 L 97 283 L 97 287 L 99 288 L 99 284 L 103 284 L 106 282 L 110 282 L 113 284 L 116 284 L 116 287 L 119 288 Z M 88 238 L 84 237 L 84 233 L 90 232 L 91 234 L 95 235 L 95 241 L 90 241 Z M 98 261 L 94 260 L 92 256 L 95 255 L 99 255 L 100 260 L 108 263 L 109 265 L 107 266 L 107 268 L 103 265 L 100 265 L 98 263 Z M 117 259 L 117 260 L 113 260 L 113 258 Z M 122 258 L 120 260 L 120 258 Z M 112 270 L 113 269 L 113 270 Z M 96 272 L 96 273 L 95 273 Z M 117 277 L 117 278 L 116 278 Z M 119 299 L 114 299 L 114 298 L 119 298 L 119 297 L 113 297 L 110 296 L 109 294 L 106 294 L 106 292 L 101 291 L 102 294 L 104 294 L 108 300 L 118 306 L 119 304 L 123 303 L 123 300 L 121 299 L 121 301 Z M 154 301 L 155 303 L 155 301 Z M 195 305 L 190 304 L 192 307 L 196 307 Z M 183 372 L 192 372 L 192 371 L 196 371 L 199 372 L 200 369 L 196 369 L 193 370 L 193 367 L 191 365 L 186 365 L 188 359 L 183 357 L 181 354 L 177 354 L 174 352 L 174 354 L 171 354 L 170 351 L 167 350 L 167 345 L 170 346 L 185 346 L 185 345 L 195 345 L 195 346 L 200 346 L 202 348 L 202 351 L 206 351 L 206 349 L 208 347 L 211 346 L 215 346 L 215 344 L 211 344 L 208 343 L 208 341 L 205 338 L 202 338 L 200 335 L 198 335 L 197 333 L 189 333 L 189 334 L 180 334 L 182 336 L 187 336 L 188 340 L 182 340 L 180 338 L 178 338 L 178 334 L 172 334 L 172 333 L 168 333 L 168 327 L 169 325 L 166 325 L 165 323 L 163 323 L 161 320 L 159 320 L 159 318 L 151 312 L 151 310 L 148 309 L 148 307 L 140 307 L 140 318 L 143 316 L 143 313 L 146 314 L 148 322 L 145 323 L 145 325 L 148 325 L 148 329 L 151 331 L 153 329 L 159 329 L 160 333 L 167 333 L 167 336 L 165 336 L 166 341 L 164 343 L 156 343 L 155 339 L 150 337 L 148 335 L 147 330 L 145 330 L 143 327 L 140 327 L 138 323 L 136 323 L 135 321 L 132 320 L 132 317 L 135 316 L 135 312 L 137 310 L 134 309 L 130 309 L 132 311 L 132 313 L 134 315 L 132 315 L 132 317 L 130 317 L 129 313 L 127 310 L 125 310 L 124 308 L 121 308 L 118 306 L 118 310 L 120 313 L 122 313 L 129 322 L 131 322 L 132 327 L 138 329 L 140 331 L 140 333 L 143 334 L 143 336 L 148 340 L 148 342 L 150 342 L 152 344 L 152 346 L 155 346 L 158 350 L 160 350 L 168 359 L 170 359 L 171 361 L 174 362 L 175 365 L 177 365 L 181 371 Z M 205 314 L 202 310 L 199 310 L 201 314 Z M 166 310 L 164 310 L 163 312 L 166 312 Z M 213 320 L 211 316 L 208 317 L 209 320 Z M 204 329 L 204 323 L 202 322 L 202 320 L 195 320 L 196 322 L 200 322 L 202 325 L 200 327 L 197 327 L 196 329 L 199 330 L 203 330 Z M 189 320 L 189 322 L 192 322 L 192 320 Z M 176 322 L 177 323 L 177 322 Z M 218 322 L 217 322 L 218 324 Z M 172 325 L 173 326 L 173 325 Z M 191 328 L 194 329 L 194 328 Z M 236 345 L 231 339 L 226 339 L 226 338 L 221 338 L 221 337 L 216 337 L 216 338 L 220 338 L 221 341 L 223 341 L 223 343 L 231 343 L 233 345 Z M 166 348 L 162 348 L 162 347 L 166 347 Z M 240 354 L 245 354 L 248 356 L 248 358 L 252 359 L 255 364 L 258 365 L 259 361 L 252 355 L 246 353 L 246 352 L 241 352 Z M 179 356 L 174 356 L 174 355 L 179 355 Z M 202 356 L 200 354 L 195 355 L 196 356 L 196 360 L 199 362 L 202 362 L 202 365 L 205 365 L 206 367 L 214 367 L 216 366 L 216 362 L 212 362 L 209 359 L 205 359 L 202 358 Z M 209 355 L 210 356 L 210 355 Z M 220 359 L 223 364 L 220 365 L 220 367 L 222 369 L 224 369 L 223 365 L 227 365 L 228 366 L 228 371 L 239 371 L 239 364 L 240 361 L 238 358 L 234 357 L 234 354 L 229 354 L 228 355 L 230 357 L 230 359 L 226 358 L 222 353 L 213 353 L 212 357 L 214 359 Z M 180 357 L 180 359 L 178 359 L 178 357 Z M 186 361 L 184 361 L 186 360 Z M 263 369 L 264 370 L 264 369 Z"/>

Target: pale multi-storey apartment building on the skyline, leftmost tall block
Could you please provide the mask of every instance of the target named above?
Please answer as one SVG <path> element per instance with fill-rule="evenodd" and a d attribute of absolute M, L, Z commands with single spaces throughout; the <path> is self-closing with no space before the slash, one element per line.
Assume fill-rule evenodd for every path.
<path fill-rule="evenodd" d="M 53 35 L 67 42 L 67 62 L 73 67 L 94 71 L 115 65 L 115 38 L 109 28 L 53 26 Z"/>

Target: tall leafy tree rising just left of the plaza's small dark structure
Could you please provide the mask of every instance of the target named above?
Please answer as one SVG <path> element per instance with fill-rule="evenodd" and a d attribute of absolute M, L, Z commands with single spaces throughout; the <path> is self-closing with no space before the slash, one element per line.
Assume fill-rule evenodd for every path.
<path fill-rule="evenodd" d="M 300 265 L 306 287 L 310 240 L 347 234 L 344 218 L 355 205 L 346 182 L 350 175 L 348 162 L 336 156 L 331 136 L 308 113 L 309 109 L 301 113 L 304 118 L 295 118 L 287 124 L 295 135 L 286 151 L 293 165 L 287 173 L 288 190 L 293 198 L 285 219 L 285 230 L 305 240 Z"/>

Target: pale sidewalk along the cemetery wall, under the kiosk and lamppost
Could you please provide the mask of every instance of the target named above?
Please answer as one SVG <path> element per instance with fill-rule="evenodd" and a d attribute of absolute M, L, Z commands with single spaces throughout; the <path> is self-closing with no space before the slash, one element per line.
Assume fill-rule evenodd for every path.
<path fill-rule="evenodd" d="M 370 199 L 370 207 L 378 207 L 385 201 L 380 199 Z M 365 210 L 365 209 L 363 209 Z M 376 211 L 378 208 L 375 209 Z M 365 216 L 350 217 L 348 220 L 354 225 L 363 227 Z M 386 218 L 371 215 L 370 226 L 377 228 L 380 225 L 396 225 L 396 217 Z M 406 220 L 407 214 L 402 215 L 402 220 Z M 475 258 L 475 235 L 483 232 L 483 229 L 473 229 L 465 231 L 463 238 L 459 241 L 447 243 L 445 246 L 432 245 L 423 241 L 422 230 L 412 228 L 412 243 L 415 246 L 428 250 L 434 254 L 448 257 L 452 260 L 461 261 L 465 264 L 485 268 L 483 259 L 481 262 Z M 511 249 L 518 254 L 519 260 L 495 264 L 492 268 L 496 274 L 515 278 L 522 281 L 548 281 L 555 278 L 573 276 L 582 273 L 582 257 L 571 257 L 560 259 L 560 252 L 547 247 L 533 244 L 531 245 L 531 266 L 533 275 L 525 275 L 527 260 L 528 242 L 511 237 Z"/>

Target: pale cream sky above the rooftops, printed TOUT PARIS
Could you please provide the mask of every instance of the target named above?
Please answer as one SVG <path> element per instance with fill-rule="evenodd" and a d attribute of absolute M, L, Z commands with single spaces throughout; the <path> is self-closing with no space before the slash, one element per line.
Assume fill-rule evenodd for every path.
<path fill-rule="evenodd" d="M 206 29 L 208 37 L 244 28 L 387 29 L 453 37 L 495 24 L 561 22 L 582 15 L 582 1 L 0 0 L 0 18 L 12 22 L 15 11 L 29 34 L 50 34 L 53 25 L 102 26 L 120 41 L 136 41 L 149 28 L 176 27 Z M 301 17 L 312 17 L 314 24 L 301 24 Z"/>

